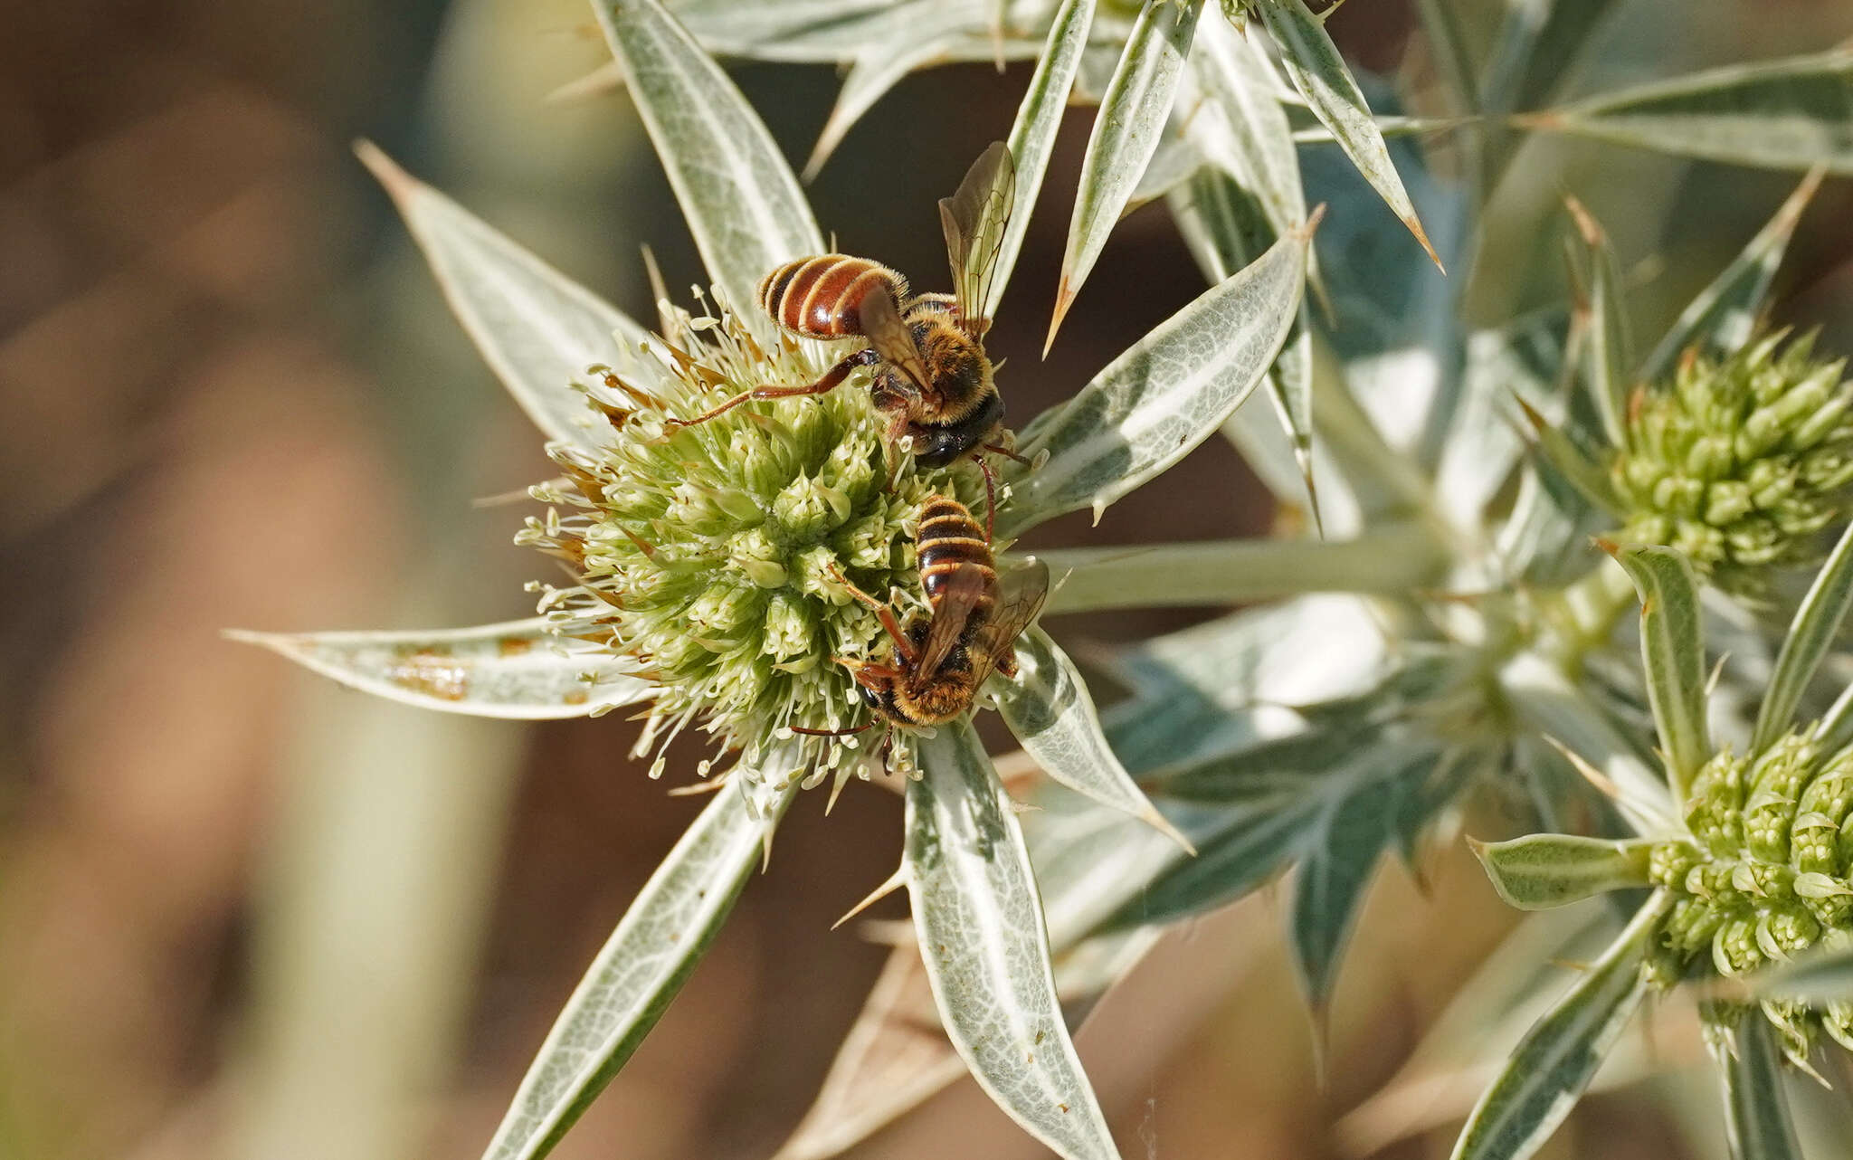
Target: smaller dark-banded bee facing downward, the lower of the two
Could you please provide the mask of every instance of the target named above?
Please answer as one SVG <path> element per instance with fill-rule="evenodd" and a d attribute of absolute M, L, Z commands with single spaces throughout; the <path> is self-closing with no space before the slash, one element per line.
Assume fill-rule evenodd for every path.
<path fill-rule="evenodd" d="M 915 554 L 930 612 L 914 615 L 904 626 L 891 604 L 838 576 L 858 600 L 876 610 L 891 639 L 880 662 L 838 658 L 856 678 L 862 704 L 875 721 L 845 730 L 795 732 L 858 734 L 882 721 L 891 739 L 893 726 L 952 721 L 971 708 L 991 673 L 1015 676 L 1014 645 L 1049 595 L 1049 565 L 1032 560 L 999 576 L 978 521 L 964 504 L 939 495 L 921 504 Z"/>

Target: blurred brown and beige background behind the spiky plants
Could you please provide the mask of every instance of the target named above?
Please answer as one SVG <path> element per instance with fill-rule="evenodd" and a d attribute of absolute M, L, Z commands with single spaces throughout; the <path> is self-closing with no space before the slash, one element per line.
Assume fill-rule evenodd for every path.
<path fill-rule="evenodd" d="M 611 717 L 419 713 L 219 630 L 510 619 L 530 612 L 521 582 L 548 571 L 510 543 L 519 508 L 471 504 L 550 474 L 539 439 L 450 321 L 354 137 L 639 319 L 643 243 L 673 291 L 700 276 L 667 183 L 621 93 L 547 100 L 606 59 L 578 0 L 0 9 L 0 1158 L 474 1158 L 699 810 L 663 793 L 687 771 L 647 780 Z M 1575 85 L 1853 35 L 1844 0 L 1618 9 Z M 1351 0 L 1330 22 L 1379 70 L 1419 70 L 1412 28 L 1403 0 Z M 737 78 L 802 159 L 834 74 Z M 902 83 L 815 182 L 825 230 L 941 280 L 932 204 L 1004 135 L 1025 78 L 958 67 Z M 1140 211 L 1036 359 L 1086 119 L 1073 113 L 993 332 L 1019 417 L 1201 289 L 1164 213 Z M 1521 165 L 1501 213 L 1549 222 L 1573 191 L 1623 259 L 1664 256 L 1642 267 L 1649 332 L 1794 185 L 1557 143 Z M 1840 352 L 1847 185 L 1827 185 L 1779 284 L 1783 319 L 1823 326 Z M 1212 441 L 1116 506 L 1103 536 L 1264 534 L 1275 515 Z M 1058 630 L 1125 641 L 1190 619 Z M 852 788 L 828 819 L 821 795 L 800 799 L 771 871 L 556 1154 L 771 1156 L 884 956 L 828 925 L 897 847 L 889 795 Z M 1127 1154 L 1445 1154 L 1475 1077 L 1416 1116 L 1379 1101 L 1345 1119 L 1505 930 L 1460 856 L 1438 856 L 1427 886 L 1379 882 L 1323 1071 L 1271 899 L 1169 938 L 1080 1038 Z M 1649 1047 L 1677 1062 L 1694 1051 L 1683 1034 Z M 1716 1154 L 1675 1127 L 1686 1086 L 1675 1071 L 1586 1101 L 1547 1154 Z M 856 1154 L 1041 1153 L 967 1084 Z"/>

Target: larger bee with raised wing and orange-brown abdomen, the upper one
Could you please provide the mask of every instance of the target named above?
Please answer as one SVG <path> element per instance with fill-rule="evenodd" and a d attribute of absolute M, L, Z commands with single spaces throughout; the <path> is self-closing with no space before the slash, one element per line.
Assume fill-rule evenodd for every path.
<path fill-rule="evenodd" d="M 834 391 L 854 371 L 873 369 L 869 391 L 888 415 L 888 441 L 912 439 L 914 460 L 945 467 L 973 452 L 1015 456 L 997 443 L 1004 400 L 984 350 L 991 321 L 984 298 L 1015 202 L 1015 163 L 997 141 L 971 165 L 952 196 L 939 202 L 939 224 L 952 263 L 951 295 L 912 295 L 897 271 L 849 254 L 799 258 L 760 282 L 760 308 L 784 330 L 812 339 L 862 337 L 817 382 L 743 391 L 693 419 L 691 426 L 754 398 Z M 990 484 L 990 469 L 984 465 Z"/>

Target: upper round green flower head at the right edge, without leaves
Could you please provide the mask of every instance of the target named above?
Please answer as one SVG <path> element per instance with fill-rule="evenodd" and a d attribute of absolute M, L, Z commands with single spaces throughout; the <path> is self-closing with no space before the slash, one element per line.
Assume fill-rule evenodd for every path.
<path fill-rule="evenodd" d="M 1675 547 L 1714 584 L 1760 597 L 1771 567 L 1814 563 L 1853 502 L 1853 384 L 1786 332 L 1725 359 L 1688 356 L 1638 397 L 1610 480 L 1632 543 Z"/>

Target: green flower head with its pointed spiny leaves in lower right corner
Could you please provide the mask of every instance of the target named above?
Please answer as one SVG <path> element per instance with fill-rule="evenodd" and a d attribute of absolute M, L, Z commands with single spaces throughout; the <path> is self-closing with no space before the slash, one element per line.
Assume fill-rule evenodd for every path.
<path fill-rule="evenodd" d="M 1679 817 L 1636 838 L 1534 834 L 1475 847 L 1499 895 L 1542 910 L 1645 891 L 1634 919 L 1525 1036 L 1481 1097 L 1458 1160 L 1532 1154 L 1569 1114 L 1640 1001 L 1705 995 L 1707 1043 L 1727 1073 L 1738 1156 L 1799 1156 L 1777 1064 L 1814 1073 L 1816 1051 L 1853 1049 L 1853 1006 L 1810 1004 L 1807 984 L 1758 991 L 1760 975 L 1853 939 L 1847 706 L 1801 712 L 1853 606 L 1853 532 L 1809 589 L 1742 749 L 1714 743 L 1705 712 L 1699 584 L 1673 548 L 1610 545 L 1642 599 L 1642 662 L 1664 778 Z M 1731 988 L 1727 982 L 1746 986 Z"/>

